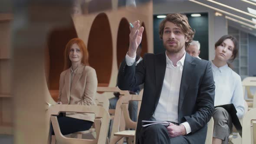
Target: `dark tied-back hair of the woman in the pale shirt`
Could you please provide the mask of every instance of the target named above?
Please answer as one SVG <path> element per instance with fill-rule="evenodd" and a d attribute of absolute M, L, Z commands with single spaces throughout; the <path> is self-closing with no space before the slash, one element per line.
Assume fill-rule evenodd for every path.
<path fill-rule="evenodd" d="M 230 62 L 233 62 L 234 59 L 236 59 L 236 56 L 238 55 L 238 51 L 239 51 L 239 45 L 238 45 L 238 41 L 234 36 L 231 35 L 224 35 L 222 36 L 216 43 L 215 43 L 215 49 L 217 48 L 217 46 L 220 46 L 221 43 L 223 43 L 223 41 L 225 39 L 230 39 L 232 40 L 232 42 L 234 43 L 234 48 L 233 48 L 233 52 L 232 52 L 232 57 L 229 59 Z M 232 68 L 232 65 L 228 62 L 227 65 Z"/>

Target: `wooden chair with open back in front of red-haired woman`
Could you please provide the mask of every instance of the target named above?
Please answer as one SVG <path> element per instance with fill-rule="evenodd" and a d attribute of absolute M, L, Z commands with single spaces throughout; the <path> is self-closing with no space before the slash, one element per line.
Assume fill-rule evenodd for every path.
<path fill-rule="evenodd" d="M 85 113 L 94 113 L 95 121 L 100 124 L 98 129 L 99 133 L 97 134 L 96 139 L 76 139 L 64 137 L 59 129 L 59 124 L 56 115 L 59 115 L 59 112 L 69 111 L 69 112 L 85 112 Z M 107 133 L 108 133 L 108 124 L 109 124 L 109 114 L 105 108 L 101 106 L 85 106 L 85 105 L 52 105 L 46 111 L 46 119 L 49 124 L 51 120 L 53 125 L 53 130 L 55 132 L 57 144 L 105 144 Z M 97 123 L 97 122 L 96 122 Z M 48 128 L 48 141 L 49 141 L 49 128 Z"/>

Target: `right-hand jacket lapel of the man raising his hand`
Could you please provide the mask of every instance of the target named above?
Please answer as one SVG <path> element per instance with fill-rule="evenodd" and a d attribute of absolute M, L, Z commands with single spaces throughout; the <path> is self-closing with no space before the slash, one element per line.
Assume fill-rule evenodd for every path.
<path fill-rule="evenodd" d="M 191 82 L 191 76 L 194 72 L 195 64 L 194 59 L 186 52 L 186 57 L 184 60 L 184 66 L 181 76 L 181 87 L 179 95 L 178 113 L 181 111 L 181 106 L 184 101 L 184 97 L 187 94 L 187 89 L 189 88 L 189 83 Z"/>

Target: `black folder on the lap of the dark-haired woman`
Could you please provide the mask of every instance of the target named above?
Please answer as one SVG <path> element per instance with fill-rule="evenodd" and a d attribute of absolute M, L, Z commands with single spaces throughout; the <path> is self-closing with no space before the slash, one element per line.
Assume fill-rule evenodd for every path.
<path fill-rule="evenodd" d="M 231 119 L 232 119 L 232 123 L 234 124 L 236 130 L 238 131 L 238 133 L 240 134 L 240 136 L 242 137 L 242 125 L 236 115 L 236 108 L 233 104 L 227 104 L 227 105 L 218 105 L 215 106 L 216 107 L 222 107 L 224 108 L 230 115 L 231 115 Z"/>

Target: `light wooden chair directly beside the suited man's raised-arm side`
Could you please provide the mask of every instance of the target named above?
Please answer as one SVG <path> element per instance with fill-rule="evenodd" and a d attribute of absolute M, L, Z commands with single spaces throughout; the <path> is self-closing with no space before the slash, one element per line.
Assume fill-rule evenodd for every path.
<path fill-rule="evenodd" d="M 125 128 L 136 129 L 137 122 L 131 120 L 128 112 L 129 101 L 141 101 L 142 95 L 124 95 L 119 98 L 116 109 L 114 122 L 110 137 L 110 144 L 115 144 L 120 141 L 123 137 L 128 137 L 128 144 L 132 144 L 135 137 L 135 130 L 127 130 Z M 139 107 L 138 107 L 139 109 Z M 124 117 L 122 117 L 122 115 Z M 125 124 L 121 123 L 121 119 L 125 119 Z M 121 141 L 122 142 L 122 141 Z"/>

